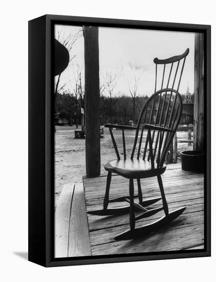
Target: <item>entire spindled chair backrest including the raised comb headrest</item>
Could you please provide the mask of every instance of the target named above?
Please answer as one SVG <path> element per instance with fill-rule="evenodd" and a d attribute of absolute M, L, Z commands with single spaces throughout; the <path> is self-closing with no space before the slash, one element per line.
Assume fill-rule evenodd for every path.
<path fill-rule="evenodd" d="M 182 113 L 182 99 L 178 91 L 181 83 L 182 73 L 184 70 L 185 59 L 188 53 L 189 53 L 189 48 L 187 48 L 185 52 L 181 55 L 173 56 L 167 59 L 158 59 L 158 58 L 154 59 L 154 63 L 156 66 L 155 94 L 153 94 L 152 97 L 148 99 L 146 105 L 143 107 L 143 111 L 145 111 L 146 109 L 146 112 L 145 113 L 143 111 L 141 112 L 139 122 L 141 123 L 141 118 L 144 113 L 145 116 L 144 116 L 143 124 L 146 123 L 149 125 L 163 126 L 172 130 L 172 132 L 166 132 L 166 133 L 153 131 L 152 136 L 149 136 L 150 133 L 148 133 L 147 135 L 144 152 L 143 152 L 143 159 L 145 159 L 147 147 L 150 145 L 149 144 L 149 137 L 150 137 L 153 146 L 153 158 L 155 160 L 157 155 L 156 161 L 158 166 L 163 165 L 165 160 L 165 154 L 169 148 L 170 143 L 172 142 L 172 138 L 180 122 L 181 113 Z M 166 87 L 166 89 L 164 89 L 165 91 L 163 90 L 160 92 L 159 90 L 162 90 L 164 87 Z M 169 87 L 171 88 L 169 89 L 170 93 L 168 93 L 169 91 L 167 91 Z M 159 92 L 156 92 L 157 90 Z M 162 97 L 163 92 L 164 92 L 164 96 Z M 141 139 L 143 136 L 143 130 L 144 128 L 142 128 L 141 131 Z M 138 133 L 139 133 L 139 129 L 137 130 L 137 136 Z M 135 143 L 136 142 L 137 139 L 135 138 Z M 142 144 L 142 140 L 140 140 L 139 143 L 137 158 L 139 158 L 140 155 L 141 144 Z M 134 157 L 135 149 L 136 149 L 136 144 L 134 144 L 134 149 L 132 151 L 131 158 Z M 148 149 L 149 152 L 147 159 L 149 160 L 151 148 Z"/>

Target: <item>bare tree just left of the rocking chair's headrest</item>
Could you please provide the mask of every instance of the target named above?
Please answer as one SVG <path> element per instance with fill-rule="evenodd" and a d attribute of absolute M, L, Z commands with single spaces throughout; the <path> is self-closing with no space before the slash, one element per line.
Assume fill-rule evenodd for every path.
<path fill-rule="evenodd" d="M 145 67 L 141 66 L 141 65 L 136 65 L 136 64 L 132 64 L 132 63 L 128 63 L 128 67 L 132 73 L 132 75 L 130 77 L 126 77 L 127 80 L 127 85 L 128 85 L 128 90 L 129 93 L 132 96 L 133 99 L 133 120 L 135 122 L 135 101 L 136 101 L 136 95 L 137 95 L 137 89 L 139 86 L 139 81 L 140 81 L 140 77 L 142 76 L 143 72 L 145 71 Z"/>

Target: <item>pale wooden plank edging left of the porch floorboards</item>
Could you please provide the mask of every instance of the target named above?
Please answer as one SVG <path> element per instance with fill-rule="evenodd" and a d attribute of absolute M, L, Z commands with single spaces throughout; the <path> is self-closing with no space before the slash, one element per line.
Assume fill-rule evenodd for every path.
<path fill-rule="evenodd" d="M 55 211 L 55 257 L 91 255 L 82 183 L 63 186 Z"/>

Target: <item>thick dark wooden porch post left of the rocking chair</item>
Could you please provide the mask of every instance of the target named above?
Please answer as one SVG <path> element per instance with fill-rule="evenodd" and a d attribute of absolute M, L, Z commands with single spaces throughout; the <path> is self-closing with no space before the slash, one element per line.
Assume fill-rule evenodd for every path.
<path fill-rule="evenodd" d="M 98 27 L 84 27 L 85 164 L 87 176 L 100 175 L 100 96 Z"/>

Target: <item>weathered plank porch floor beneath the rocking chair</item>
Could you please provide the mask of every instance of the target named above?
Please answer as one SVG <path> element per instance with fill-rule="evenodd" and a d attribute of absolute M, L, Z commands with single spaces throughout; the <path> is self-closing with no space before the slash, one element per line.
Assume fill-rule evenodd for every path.
<path fill-rule="evenodd" d="M 186 207 L 180 217 L 166 228 L 138 239 L 116 241 L 114 236 L 129 229 L 128 214 L 95 216 L 88 214 L 88 226 L 92 255 L 145 253 L 158 251 L 203 249 L 204 247 L 204 177 L 203 174 L 183 171 L 181 164 L 167 167 L 162 175 L 169 210 Z M 106 175 L 84 177 L 84 193 L 87 211 L 102 209 Z M 141 180 L 143 197 L 159 196 L 157 178 Z M 137 185 L 135 183 L 135 194 Z M 112 177 L 110 198 L 128 194 L 128 179 Z M 160 206 L 162 202 L 154 206 Z M 112 203 L 109 207 L 125 206 Z M 138 214 L 138 213 L 137 213 Z M 163 211 L 136 222 L 136 227 L 148 224 L 164 215 Z"/>

